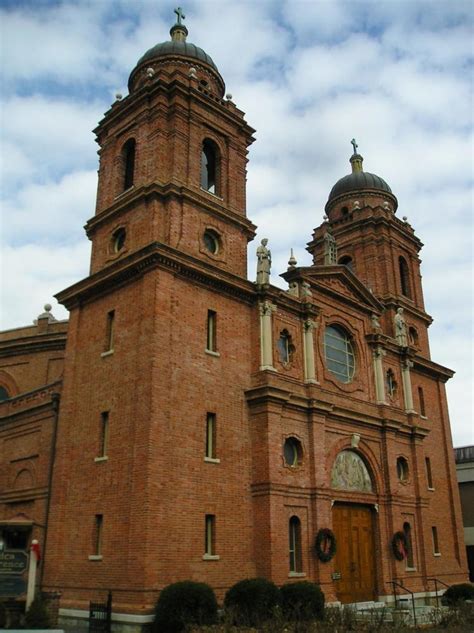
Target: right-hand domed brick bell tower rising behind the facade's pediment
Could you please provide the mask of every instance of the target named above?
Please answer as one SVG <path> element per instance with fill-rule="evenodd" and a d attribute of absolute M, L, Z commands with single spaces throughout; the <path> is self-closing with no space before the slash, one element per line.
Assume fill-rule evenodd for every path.
<path fill-rule="evenodd" d="M 308 251 L 314 265 L 324 265 L 328 237 L 335 243 L 335 262 L 345 265 L 385 306 L 387 331 L 398 307 L 410 315 L 412 342 L 429 355 L 419 252 L 423 246 L 406 217 L 396 216 L 398 200 L 389 185 L 364 171 L 353 139 L 352 171 L 332 188 L 325 221 L 316 228 Z M 327 255 L 326 255 L 327 258 Z"/>

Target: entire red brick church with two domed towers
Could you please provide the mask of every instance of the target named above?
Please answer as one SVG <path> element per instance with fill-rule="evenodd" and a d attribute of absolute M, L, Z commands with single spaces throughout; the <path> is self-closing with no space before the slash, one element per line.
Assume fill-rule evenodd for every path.
<path fill-rule="evenodd" d="M 307 579 L 342 603 L 466 580 L 422 243 L 354 141 L 313 264 L 291 258 L 272 285 L 262 240 L 249 280 L 254 130 L 187 34 L 178 15 L 95 129 L 69 320 L 46 306 L 0 336 L 2 547 L 39 540 L 64 620 L 110 589 L 130 631 L 183 579 L 219 598 Z"/>

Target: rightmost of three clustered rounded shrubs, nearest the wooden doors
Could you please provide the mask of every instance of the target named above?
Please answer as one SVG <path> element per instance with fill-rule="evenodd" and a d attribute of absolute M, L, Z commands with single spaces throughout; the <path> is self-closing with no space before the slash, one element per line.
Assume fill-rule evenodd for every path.
<path fill-rule="evenodd" d="M 283 585 L 280 589 L 283 615 L 288 620 L 321 620 L 324 593 L 319 585 L 306 580 Z"/>

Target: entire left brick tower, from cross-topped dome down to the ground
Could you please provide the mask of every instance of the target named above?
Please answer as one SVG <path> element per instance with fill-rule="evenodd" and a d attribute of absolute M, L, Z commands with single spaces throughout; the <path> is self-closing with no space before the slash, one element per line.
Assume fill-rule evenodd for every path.
<path fill-rule="evenodd" d="M 255 573 L 240 335 L 255 320 L 254 130 L 183 18 L 95 130 L 91 271 L 57 295 L 70 321 L 44 579 L 78 588 L 63 594 L 76 607 L 91 577 L 128 613 L 178 577 L 222 585 L 220 556 L 226 582 Z"/>

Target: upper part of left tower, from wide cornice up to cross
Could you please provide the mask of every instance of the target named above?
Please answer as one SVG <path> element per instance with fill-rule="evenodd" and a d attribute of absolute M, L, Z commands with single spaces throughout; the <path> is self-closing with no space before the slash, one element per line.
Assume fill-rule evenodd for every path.
<path fill-rule="evenodd" d="M 254 130 L 213 60 L 187 41 L 177 9 L 171 39 L 133 69 L 95 129 L 99 184 L 91 273 L 152 242 L 246 277 L 247 147 Z"/>

